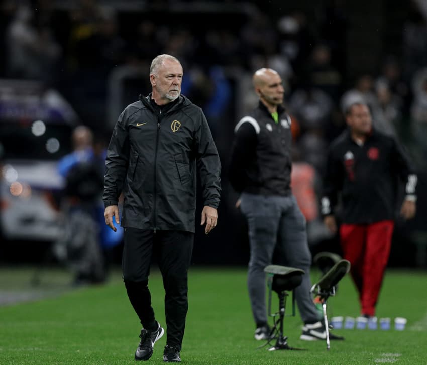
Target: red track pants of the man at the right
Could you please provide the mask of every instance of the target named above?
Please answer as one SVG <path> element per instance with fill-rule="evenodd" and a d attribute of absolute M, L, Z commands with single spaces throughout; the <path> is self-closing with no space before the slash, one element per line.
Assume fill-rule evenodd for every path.
<path fill-rule="evenodd" d="M 375 305 L 390 255 L 394 222 L 342 224 L 341 247 L 351 263 L 351 275 L 359 292 L 361 314 L 375 315 Z"/>

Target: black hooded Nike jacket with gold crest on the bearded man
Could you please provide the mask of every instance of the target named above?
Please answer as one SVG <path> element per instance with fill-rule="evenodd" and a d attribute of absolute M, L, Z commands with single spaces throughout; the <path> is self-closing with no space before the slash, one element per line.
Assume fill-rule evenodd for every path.
<path fill-rule="evenodd" d="M 218 208 L 221 163 L 202 110 L 185 96 L 162 107 L 140 97 L 122 112 L 106 155 L 103 201 L 121 225 L 194 232 L 196 168 L 203 205 Z"/>

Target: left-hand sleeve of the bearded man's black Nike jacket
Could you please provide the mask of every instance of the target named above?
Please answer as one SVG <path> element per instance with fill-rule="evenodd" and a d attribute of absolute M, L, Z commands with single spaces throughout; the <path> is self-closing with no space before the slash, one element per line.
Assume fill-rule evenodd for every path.
<path fill-rule="evenodd" d="M 107 149 L 104 174 L 104 206 L 117 205 L 129 164 L 129 138 L 126 127 L 127 109 L 119 117 Z"/>

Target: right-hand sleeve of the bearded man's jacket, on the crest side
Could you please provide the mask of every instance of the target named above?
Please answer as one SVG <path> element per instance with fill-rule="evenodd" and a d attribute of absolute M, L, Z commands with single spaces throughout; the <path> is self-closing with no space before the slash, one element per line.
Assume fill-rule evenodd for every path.
<path fill-rule="evenodd" d="M 195 133 L 197 169 L 203 189 L 203 205 L 217 209 L 221 195 L 221 161 L 206 117 L 200 110 L 201 124 Z"/>

